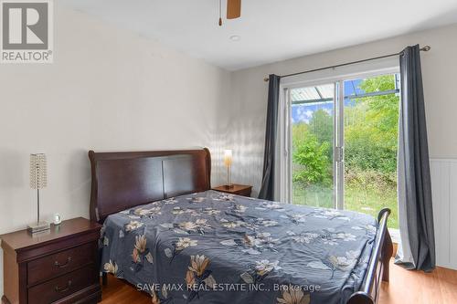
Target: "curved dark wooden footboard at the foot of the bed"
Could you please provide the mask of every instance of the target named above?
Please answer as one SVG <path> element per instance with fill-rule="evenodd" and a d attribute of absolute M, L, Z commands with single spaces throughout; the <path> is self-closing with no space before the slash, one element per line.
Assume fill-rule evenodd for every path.
<path fill-rule="evenodd" d="M 388 234 L 388 215 L 390 215 L 388 208 L 382 209 L 377 215 L 377 236 L 368 262 L 367 274 L 360 290 L 352 294 L 347 304 L 377 303 L 381 281 L 388 282 L 388 263 L 393 253 L 392 240 Z"/>

